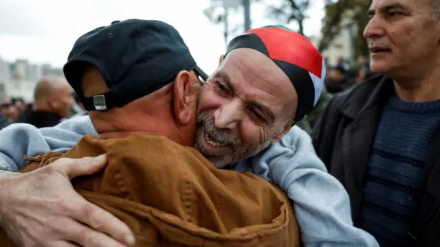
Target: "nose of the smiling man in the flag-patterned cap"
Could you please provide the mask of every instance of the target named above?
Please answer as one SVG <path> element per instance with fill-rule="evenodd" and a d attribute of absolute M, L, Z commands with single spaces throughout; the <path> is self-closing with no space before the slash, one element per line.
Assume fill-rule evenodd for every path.
<path fill-rule="evenodd" d="M 243 109 L 239 99 L 224 104 L 214 112 L 214 126 L 219 129 L 234 129 L 241 121 Z"/>

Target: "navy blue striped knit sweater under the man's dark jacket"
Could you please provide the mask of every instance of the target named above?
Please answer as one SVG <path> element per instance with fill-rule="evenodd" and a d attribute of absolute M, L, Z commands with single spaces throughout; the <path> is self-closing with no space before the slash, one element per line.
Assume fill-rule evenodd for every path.
<path fill-rule="evenodd" d="M 423 172 L 440 124 L 440 100 L 388 99 L 377 128 L 358 227 L 380 246 L 402 246 L 417 217 Z"/>

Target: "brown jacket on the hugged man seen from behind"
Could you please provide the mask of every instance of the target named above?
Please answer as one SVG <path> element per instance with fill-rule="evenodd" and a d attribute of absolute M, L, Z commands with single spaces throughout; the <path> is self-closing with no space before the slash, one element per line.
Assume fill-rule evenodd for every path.
<path fill-rule="evenodd" d="M 66 154 L 28 158 L 23 172 L 57 158 L 107 154 L 102 172 L 72 180 L 90 202 L 135 233 L 136 246 L 300 246 L 289 199 L 254 174 L 217 169 L 166 137 L 84 137 Z M 14 244 L 0 233 L 0 246 Z"/>

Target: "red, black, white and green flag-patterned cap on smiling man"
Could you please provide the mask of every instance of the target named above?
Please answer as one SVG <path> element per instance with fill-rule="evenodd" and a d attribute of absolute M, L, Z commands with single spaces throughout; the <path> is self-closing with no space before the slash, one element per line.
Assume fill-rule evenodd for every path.
<path fill-rule="evenodd" d="M 320 52 L 307 38 L 283 25 L 270 25 L 232 39 L 225 56 L 239 48 L 256 49 L 283 69 L 298 94 L 296 121 L 313 110 L 322 92 L 326 69 Z"/>

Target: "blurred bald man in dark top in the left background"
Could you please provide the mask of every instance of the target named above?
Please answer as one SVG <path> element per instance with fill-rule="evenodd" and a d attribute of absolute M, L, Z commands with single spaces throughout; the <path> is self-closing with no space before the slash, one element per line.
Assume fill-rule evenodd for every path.
<path fill-rule="evenodd" d="M 74 104 L 70 85 L 58 79 L 44 78 L 37 82 L 34 91 L 34 111 L 25 120 L 36 128 L 52 127 L 69 117 Z"/>

